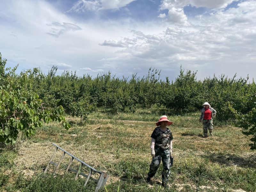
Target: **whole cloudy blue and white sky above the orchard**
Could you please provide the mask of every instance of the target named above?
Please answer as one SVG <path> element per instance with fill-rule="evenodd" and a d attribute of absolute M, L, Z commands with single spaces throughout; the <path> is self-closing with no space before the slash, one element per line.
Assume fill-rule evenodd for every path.
<path fill-rule="evenodd" d="M 117 77 L 180 65 L 197 79 L 256 77 L 256 0 L 0 0 L 0 52 L 17 72 Z"/>

